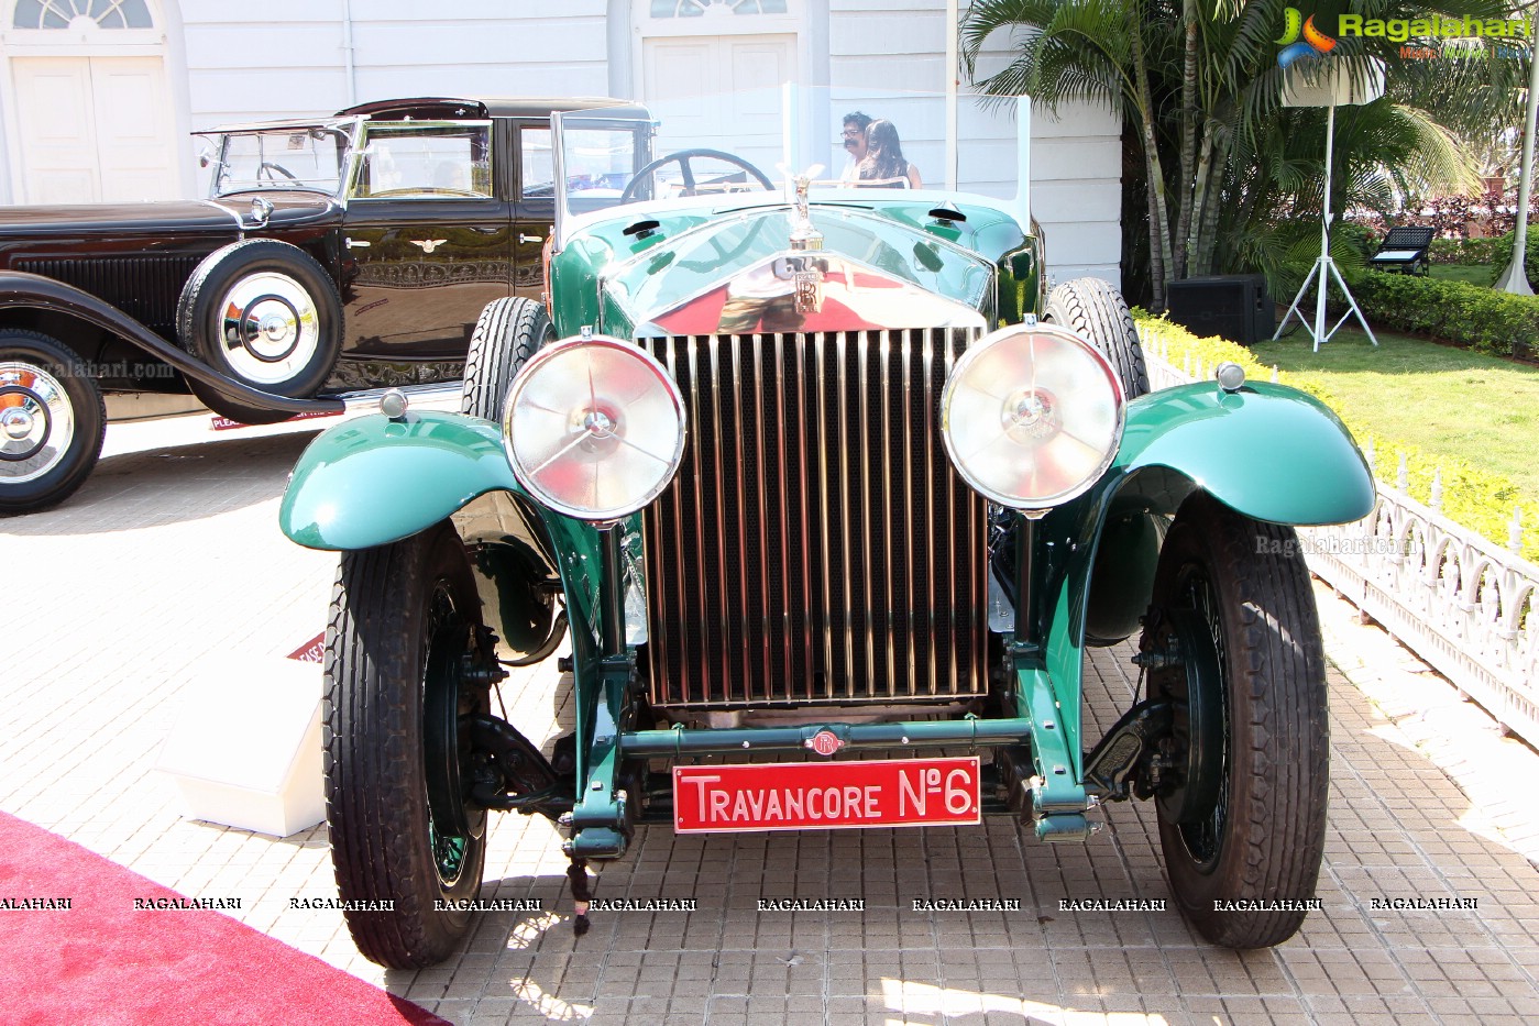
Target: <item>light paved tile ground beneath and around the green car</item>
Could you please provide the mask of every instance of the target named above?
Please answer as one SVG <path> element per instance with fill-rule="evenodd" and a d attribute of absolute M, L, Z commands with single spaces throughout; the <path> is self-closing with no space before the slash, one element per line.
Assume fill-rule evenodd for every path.
<path fill-rule="evenodd" d="M 183 820 L 154 771 L 186 697 L 265 675 L 323 625 L 336 558 L 277 531 L 312 429 L 208 437 L 202 423 L 109 432 L 68 505 L 0 520 L 0 809 L 240 918 L 454 1021 L 566 1023 L 1533 1023 L 1539 1021 L 1539 757 L 1502 738 L 1382 631 L 1320 588 L 1331 685 L 1331 832 L 1319 897 L 1273 951 L 1200 943 L 1174 912 L 1065 912 L 1060 900 L 1168 898 L 1153 811 L 1108 809 L 1085 846 L 1010 820 L 936 831 L 674 837 L 639 831 L 599 897 L 694 898 L 611 912 L 574 941 L 565 858 L 543 820 L 496 821 L 486 914 L 463 954 L 386 972 L 357 955 L 323 828 L 272 838 Z M 1096 651 L 1091 715 L 1127 700 L 1127 648 Z M 317 671 L 319 680 L 319 671 Z M 511 718 L 554 732 L 554 669 L 505 685 Z M 231 714 L 239 731 L 239 714 Z M 757 912 L 759 898 L 865 900 Z M 916 898 L 1014 898 L 1019 912 L 916 912 Z M 1400 898 L 1471 908 L 1393 908 Z M 1388 900 L 1390 908 L 1376 908 Z"/>

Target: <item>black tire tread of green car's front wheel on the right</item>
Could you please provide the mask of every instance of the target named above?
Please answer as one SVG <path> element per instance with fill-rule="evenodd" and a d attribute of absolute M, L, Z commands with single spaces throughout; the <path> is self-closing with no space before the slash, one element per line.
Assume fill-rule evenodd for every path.
<path fill-rule="evenodd" d="M 1293 937 L 1307 912 L 1214 911 L 1213 900 L 1314 897 L 1325 852 L 1330 717 L 1308 568 L 1293 528 L 1244 517 L 1205 492 L 1187 500 L 1171 535 L 1167 545 L 1177 546 L 1200 537 L 1213 557 L 1231 720 L 1230 820 L 1216 891 L 1182 894 L 1174 866 L 1171 884 L 1210 941 L 1270 948 Z M 1188 857 L 1174 826 L 1160 821 L 1160 840 L 1167 864 Z"/>

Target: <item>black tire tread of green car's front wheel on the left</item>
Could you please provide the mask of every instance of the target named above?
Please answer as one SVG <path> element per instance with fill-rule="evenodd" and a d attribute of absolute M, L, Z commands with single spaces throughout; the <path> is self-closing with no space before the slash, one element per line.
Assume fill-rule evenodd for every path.
<path fill-rule="evenodd" d="M 359 951 L 396 969 L 442 961 L 469 920 L 428 912 L 442 891 L 431 858 L 422 860 L 420 697 L 417 681 L 403 675 L 417 665 L 419 629 L 389 614 L 391 606 L 417 611 L 425 603 L 434 560 L 449 545 L 459 546 L 459 537 L 440 525 L 394 545 L 345 552 L 326 625 L 326 821 L 337 891 L 343 900 L 396 901 L 392 912 L 345 912 Z M 419 791 L 423 798 L 412 801 Z M 462 878 L 472 878 L 468 894 L 456 897 L 474 897 L 482 858 L 483 851 Z"/>

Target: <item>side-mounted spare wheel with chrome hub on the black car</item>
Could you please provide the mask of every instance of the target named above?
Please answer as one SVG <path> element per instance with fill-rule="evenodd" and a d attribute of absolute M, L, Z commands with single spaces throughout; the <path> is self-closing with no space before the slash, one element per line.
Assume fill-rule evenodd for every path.
<path fill-rule="evenodd" d="M 222 375 L 254 389 L 308 398 L 342 354 L 342 297 L 308 252 L 275 238 L 215 249 L 197 266 L 177 301 L 183 348 Z M 217 414 L 269 425 L 292 414 L 228 398 L 188 378 Z"/>

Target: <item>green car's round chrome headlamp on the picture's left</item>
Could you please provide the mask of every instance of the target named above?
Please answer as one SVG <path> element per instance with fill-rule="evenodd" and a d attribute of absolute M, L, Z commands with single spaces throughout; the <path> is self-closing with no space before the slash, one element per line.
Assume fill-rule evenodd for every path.
<path fill-rule="evenodd" d="M 617 520 L 657 498 L 683 457 L 683 398 L 634 343 L 566 338 L 512 378 L 502 417 L 512 475 L 542 505 Z"/>

